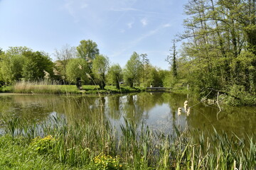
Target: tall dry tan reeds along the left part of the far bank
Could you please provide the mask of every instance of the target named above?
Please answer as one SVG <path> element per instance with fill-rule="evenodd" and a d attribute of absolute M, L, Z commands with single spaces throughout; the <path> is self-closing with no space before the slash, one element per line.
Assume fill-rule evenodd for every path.
<path fill-rule="evenodd" d="M 56 81 L 18 81 L 14 93 L 19 94 L 79 94 L 75 85 L 59 85 Z"/>

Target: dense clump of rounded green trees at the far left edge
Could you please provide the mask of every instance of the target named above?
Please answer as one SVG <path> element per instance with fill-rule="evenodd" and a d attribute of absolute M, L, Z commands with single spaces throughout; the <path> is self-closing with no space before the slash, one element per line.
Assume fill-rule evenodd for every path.
<path fill-rule="evenodd" d="M 0 56 L 0 79 L 6 84 L 15 81 L 43 79 L 53 75 L 53 63 L 45 52 L 33 52 L 27 47 L 10 47 Z"/>

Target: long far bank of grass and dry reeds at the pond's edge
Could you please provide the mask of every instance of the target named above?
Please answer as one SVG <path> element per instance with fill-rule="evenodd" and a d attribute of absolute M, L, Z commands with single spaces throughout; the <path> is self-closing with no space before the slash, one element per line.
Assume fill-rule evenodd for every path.
<path fill-rule="evenodd" d="M 75 85 L 58 85 L 58 83 L 48 83 L 46 81 L 17 82 L 14 86 L 2 86 L 0 92 L 10 92 L 18 94 L 122 94 L 144 91 L 144 88 L 131 88 L 121 86 L 117 89 L 115 86 L 105 86 L 101 90 L 99 86 L 86 85 L 78 89 Z"/>

